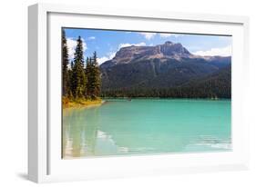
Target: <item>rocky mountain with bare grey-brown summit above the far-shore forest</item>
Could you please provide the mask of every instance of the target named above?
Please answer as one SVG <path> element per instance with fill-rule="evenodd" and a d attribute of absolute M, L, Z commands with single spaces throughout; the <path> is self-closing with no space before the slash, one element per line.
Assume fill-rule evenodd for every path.
<path fill-rule="evenodd" d="M 182 44 L 172 42 L 123 47 L 100 65 L 102 91 L 176 88 L 217 74 L 230 61 L 230 56 L 190 54 Z"/>

